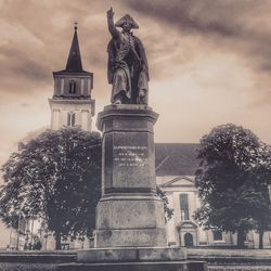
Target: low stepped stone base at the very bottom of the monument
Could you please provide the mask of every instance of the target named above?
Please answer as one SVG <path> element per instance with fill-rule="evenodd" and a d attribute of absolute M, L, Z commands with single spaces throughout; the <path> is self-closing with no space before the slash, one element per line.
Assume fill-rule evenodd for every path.
<path fill-rule="evenodd" d="M 77 263 L 60 264 L 61 271 L 207 271 L 203 261 L 188 261 L 180 247 L 94 248 L 79 250 Z"/>

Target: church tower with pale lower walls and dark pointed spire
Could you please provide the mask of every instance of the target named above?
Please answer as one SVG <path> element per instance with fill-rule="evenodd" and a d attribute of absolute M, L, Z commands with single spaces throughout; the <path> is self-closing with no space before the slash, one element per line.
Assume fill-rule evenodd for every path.
<path fill-rule="evenodd" d="M 91 99 L 93 74 L 82 69 L 77 23 L 70 46 L 66 68 L 53 72 L 54 93 L 49 99 L 51 129 L 81 127 L 91 131 L 95 100 Z"/>

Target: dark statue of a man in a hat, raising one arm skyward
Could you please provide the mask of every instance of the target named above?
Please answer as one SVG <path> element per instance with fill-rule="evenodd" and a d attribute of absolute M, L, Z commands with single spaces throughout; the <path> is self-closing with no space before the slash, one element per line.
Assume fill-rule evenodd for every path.
<path fill-rule="evenodd" d="M 131 29 L 139 25 L 125 15 L 114 25 L 114 12 L 107 11 L 107 25 L 112 35 L 108 43 L 107 77 L 112 87 L 113 104 L 147 104 L 149 67 L 145 51 Z M 119 31 L 116 27 L 121 27 Z"/>

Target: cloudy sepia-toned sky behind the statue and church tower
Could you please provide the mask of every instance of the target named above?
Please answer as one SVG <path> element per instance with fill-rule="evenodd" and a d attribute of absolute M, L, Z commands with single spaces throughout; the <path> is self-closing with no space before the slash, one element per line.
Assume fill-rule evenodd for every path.
<path fill-rule="evenodd" d="M 0 164 L 50 126 L 52 72 L 65 68 L 75 21 L 96 113 L 109 104 L 111 7 L 140 26 L 156 142 L 196 143 L 232 122 L 271 143 L 270 0 L 0 0 Z"/>

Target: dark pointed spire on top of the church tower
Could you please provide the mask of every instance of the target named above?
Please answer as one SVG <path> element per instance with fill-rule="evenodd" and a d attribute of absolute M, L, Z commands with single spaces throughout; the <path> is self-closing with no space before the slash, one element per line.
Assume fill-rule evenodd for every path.
<path fill-rule="evenodd" d="M 77 37 L 77 22 L 75 22 L 75 34 L 73 38 L 73 42 L 70 46 L 67 65 L 65 72 L 70 73 L 80 73 L 82 72 L 82 63 L 81 63 L 81 55 L 79 49 L 79 42 Z"/>

